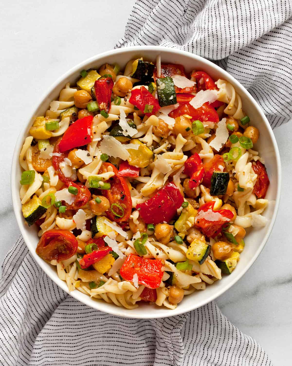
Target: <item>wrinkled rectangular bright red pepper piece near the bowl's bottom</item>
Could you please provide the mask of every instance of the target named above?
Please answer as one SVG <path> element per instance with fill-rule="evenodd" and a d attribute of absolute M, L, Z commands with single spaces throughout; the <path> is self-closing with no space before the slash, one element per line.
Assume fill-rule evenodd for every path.
<path fill-rule="evenodd" d="M 135 273 L 138 283 L 148 288 L 159 287 L 163 273 L 160 259 L 147 259 L 130 254 L 120 269 L 120 275 L 126 281 L 133 281 Z"/>

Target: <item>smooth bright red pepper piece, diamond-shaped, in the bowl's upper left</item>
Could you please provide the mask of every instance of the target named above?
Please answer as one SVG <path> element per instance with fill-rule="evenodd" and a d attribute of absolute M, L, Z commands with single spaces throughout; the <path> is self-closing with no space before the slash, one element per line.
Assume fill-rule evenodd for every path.
<path fill-rule="evenodd" d="M 64 151 L 74 149 L 74 147 L 87 145 L 91 142 L 92 120 L 93 116 L 87 116 L 72 123 L 59 142 L 59 151 L 63 153 Z"/>

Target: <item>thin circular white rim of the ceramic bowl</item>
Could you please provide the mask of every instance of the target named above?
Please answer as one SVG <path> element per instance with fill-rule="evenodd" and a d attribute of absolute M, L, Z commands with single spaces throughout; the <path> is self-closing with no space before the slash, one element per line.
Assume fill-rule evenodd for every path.
<path fill-rule="evenodd" d="M 16 168 L 19 164 L 19 148 L 23 143 L 24 136 L 26 135 L 25 131 L 26 131 L 29 123 L 31 123 L 32 116 L 35 115 L 37 110 L 45 102 L 46 97 L 55 89 L 55 87 L 59 83 L 61 83 L 62 81 L 65 81 L 66 78 L 68 78 L 73 73 L 75 73 L 79 70 L 82 70 L 82 68 L 86 67 L 87 64 L 92 63 L 94 61 L 98 61 L 102 57 L 119 55 L 120 53 L 127 53 L 127 52 L 130 52 L 130 51 L 145 52 L 147 50 L 156 51 L 157 54 L 159 54 L 159 52 L 171 52 L 171 53 L 175 53 L 176 55 L 183 55 L 183 56 L 187 56 L 187 57 L 192 57 L 194 60 L 200 60 L 201 62 L 209 65 L 210 67 L 217 69 L 224 77 L 231 80 L 231 83 L 233 84 L 233 86 L 235 86 L 237 89 L 239 89 L 241 91 L 241 93 L 245 94 L 249 98 L 249 100 L 253 104 L 254 108 L 261 115 L 261 118 L 262 118 L 262 120 L 265 124 L 265 127 L 267 128 L 268 133 L 270 135 L 270 138 L 272 140 L 272 145 L 273 145 L 272 147 L 273 147 L 273 150 L 274 150 L 274 153 L 275 153 L 275 156 L 276 156 L 276 165 L 277 165 L 277 171 L 278 171 L 278 176 L 277 176 L 278 186 L 277 186 L 277 192 L 276 192 L 276 199 L 275 199 L 273 215 L 272 215 L 272 218 L 270 219 L 268 230 L 266 231 L 266 234 L 264 235 L 264 238 L 262 239 L 260 246 L 255 251 L 255 253 L 253 254 L 253 257 L 252 257 L 251 261 L 249 262 L 249 264 L 246 265 L 245 268 L 241 272 L 239 272 L 230 281 L 228 281 L 226 283 L 226 285 L 223 286 L 222 288 L 220 288 L 215 294 L 209 295 L 206 299 L 201 300 L 200 302 L 194 302 L 194 305 L 189 306 L 187 310 L 185 310 L 184 307 L 178 306 L 176 309 L 171 310 L 169 312 L 161 311 L 161 315 L 158 314 L 158 315 L 155 315 L 155 317 L 151 317 L 151 311 L 150 312 L 145 312 L 145 316 L 143 316 L 143 314 L 137 314 L 136 315 L 135 314 L 135 309 L 132 309 L 132 310 L 124 309 L 124 308 L 121 308 L 121 307 L 118 307 L 118 306 L 116 306 L 116 308 L 114 308 L 115 310 L 112 310 L 111 307 L 108 307 L 108 310 L 106 310 L 106 307 L 103 306 L 104 304 L 107 305 L 106 302 L 104 302 L 104 303 L 103 302 L 95 302 L 96 306 L 93 307 L 92 303 L 89 301 L 90 300 L 89 296 L 88 296 L 88 299 L 85 298 L 85 299 L 81 300 L 78 291 L 70 292 L 68 290 L 68 287 L 67 287 L 67 284 L 66 284 L 65 281 L 62 281 L 59 278 L 57 278 L 57 279 L 54 278 L 54 276 L 51 275 L 51 273 L 46 269 L 46 267 L 42 265 L 43 264 L 43 259 L 41 259 L 35 253 L 35 250 L 32 250 L 31 246 L 28 244 L 30 242 L 30 240 L 28 238 L 27 231 L 23 230 L 23 228 L 22 228 L 22 216 L 20 215 L 19 207 L 18 207 L 19 206 L 19 202 L 18 202 L 19 201 L 19 187 L 18 187 L 18 183 L 16 182 L 16 179 L 15 179 Z M 13 153 L 13 157 L 12 157 L 12 163 L 11 163 L 11 182 L 10 182 L 10 186 L 11 186 L 11 196 L 12 196 L 13 209 L 14 209 L 16 221 L 18 223 L 18 227 L 20 229 L 20 232 L 23 236 L 24 242 L 26 243 L 26 246 L 28 247 L 28 250 L 30 251 L 30 254 L 34 258 L 34 260 L 42 268 L 42 270 L 46 273 L 46 275 L 49 276 L 51 280 L 53 280 L 53 282 L 55 284 L 57 284 L 59 287 L 61 287 L 61 289 L 63 291 L 65 291 L 67 294 L 71 295 L 73 298 L 77 299 L 81 303 L 84 303 L 85 305 L 88 305 L 88 306 L 92 307 L 93 309 L 103 311 L 103 312 L 106 312 L 108 314 L 124 317 L 124 318 L 140 318 L 140 319 L 147 318 L 147 319 L 149 319 L 149 318 L 164 318 L 164 317 L 171 317 L 171 316 L 175 316 L 175 315 L 180 315 L 180 314 L 187 313 L 188 311 L 195 310 L 195 309 L 197 309 L 201 306 L 204 306 L 205 304 L 207 304 L 207 303 L 211 302 L 212 300 L 216 299 L 218 296 L 222 295 L 225 291 L 227 291 L 231 286 L 233 286 L 247 272 L 247 270 L 251 267 L 251 265 L 255 262 L 255 260 L 260 255 L 261 251 L 263 250 L 263 248 L 264 248 L 264 246 L 265 246 L 265 244 L 266 244 L 266 242 L 267 242 L 267 240 L 270 236 L 270 233 L 272 232 L 272 229 L 273 229 L 273 226 L 274 226 L 274 223 L 275 223 L 275 220 L 276 220 L 279 204 L 280 204 L 281 181 L 282 181 L 282 172 L 281 172 L 280 153 L 279 153 L 279 150 L 278 150 L 276 138 L 274 137 L 272 128 L 271 128 L 264 112 L 262 111 L 260 105 L 258 105 L 257 101 L 255 101 L 255 99 L 253 98 L 253 96 L 251 96 L 249 91 L 247 91 L 245 89 L 245 87 L 243 85 L 241 85 L 241 83 L 239 83 L 232 75 L 230 75 L 227 71 L 220 68 L 215 63 L 205 59 L 204 57 L 195 55 L 191 52 L 183 51 L 183 50 L 176 49 L 176 48 L 164 47 L 164 46 L 128 46 L 128 47 L 124 47 L 124 48 L 111 49 L 109 51 L 99 53 L 95 56 L 89 57 L 88 59 L 78 63 L 76 66 L 73 66 L 72 68 L 70 68 L 70 70 L 66 71 L 63 75 L 61 75 L 55 82 L 53 82 L 51 84 L 51 86 L 46 90 L 46 92 L 42 94 L 42 97 L 39 99 L 36 106 L 34 108 L 32 108 L 32 112 L 30 114 L 28 114 L 27 122 L 21 128 L 21 130 L 19 132 L 19 135 L 18 135 L 18 138 L 16 140 L 16 144 L 15 144 L 15 147 L 14 147 L 14 153 Z M 103 305 L 100 306 L 100 304 L 103 304 Z M 102 309 L 100 309 L 100 308 L 102 308 Z"/>

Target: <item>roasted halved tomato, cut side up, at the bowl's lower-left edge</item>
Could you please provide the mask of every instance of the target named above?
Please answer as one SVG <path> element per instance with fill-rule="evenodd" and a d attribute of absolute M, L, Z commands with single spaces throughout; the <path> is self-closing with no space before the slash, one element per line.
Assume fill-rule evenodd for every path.
<path fill-rule="evenodd" d="M 35 252 L 45 261 L 65 261 L 77 251 L 78 242 L 68 230 L 48 230 L 43 233 Z"/>

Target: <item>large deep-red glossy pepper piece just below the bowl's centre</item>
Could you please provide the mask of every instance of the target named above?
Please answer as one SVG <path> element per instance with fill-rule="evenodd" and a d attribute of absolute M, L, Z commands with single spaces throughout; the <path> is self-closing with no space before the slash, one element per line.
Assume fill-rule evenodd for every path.
<path fill-rule="evenodd" d="M 169 222 L 180 208 L 184 198 L 177 186 L 170 182 L 146 202 L 138 203 L 136 208 L 146 224 Z"/>

